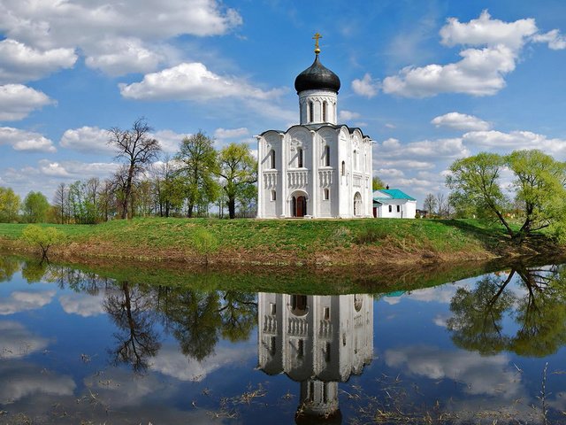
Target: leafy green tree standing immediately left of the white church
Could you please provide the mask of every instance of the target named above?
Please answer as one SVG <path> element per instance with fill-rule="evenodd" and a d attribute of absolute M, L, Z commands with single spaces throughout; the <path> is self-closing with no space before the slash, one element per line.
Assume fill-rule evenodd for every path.
<path fill-rule="evenodd" d="M 236 198 L 257 182 L 257 162 L 246 143 L 230 143 L 218 155 L 218 176 L 228 201 L 228 215 L 236 216 Z"/>

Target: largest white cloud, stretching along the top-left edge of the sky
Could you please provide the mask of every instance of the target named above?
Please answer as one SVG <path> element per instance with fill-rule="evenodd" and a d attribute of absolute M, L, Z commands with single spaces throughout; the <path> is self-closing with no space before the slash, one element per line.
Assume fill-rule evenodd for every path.
<path fill-rule="evenodd" d="M 216 0 L 4 0 L 0 4 L 0 29 L 8 38 L 36 50 L 76 48 L 84 53 L 88 66 L 112 75 L 149 72 L 161 62 L 175 60 L 177 50 L 171 45 L 164 48 L 163 43 L 179 35 L 224 35 L 241 23 L 238 12 Z"/>

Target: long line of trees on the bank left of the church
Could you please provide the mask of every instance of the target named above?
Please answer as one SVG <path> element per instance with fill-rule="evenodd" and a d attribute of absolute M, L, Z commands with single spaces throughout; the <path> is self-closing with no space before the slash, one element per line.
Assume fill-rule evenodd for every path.
<path fill-rule="evenodd" d="M 109 130 L 121 165 L 108 179 L 59 183 L 49 202 L 41 192 L 22 201 L 0 187 L 0 222 L 94 224 L 134 216 L 255 217 L 257 166 L 246 143 L 221 150 L 202 131 L 185 137 L 172 157 L 150 137 L 146 120 Z"/>

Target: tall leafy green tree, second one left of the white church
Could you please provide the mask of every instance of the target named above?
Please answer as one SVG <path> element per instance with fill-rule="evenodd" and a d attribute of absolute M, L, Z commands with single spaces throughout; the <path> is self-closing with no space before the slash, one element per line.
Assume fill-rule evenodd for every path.
<path fill-rule="evenodd" d="M 218 197 L 218 183 L 214 180 L 217 171 L 217 152 L 214 141 L 199 130 L 185 137 L 175 158 L 182 163 L 179 173 L 183 175 L 187 197 L 187 217 L 193 217 L 198 205 L 213 202 Z"/>

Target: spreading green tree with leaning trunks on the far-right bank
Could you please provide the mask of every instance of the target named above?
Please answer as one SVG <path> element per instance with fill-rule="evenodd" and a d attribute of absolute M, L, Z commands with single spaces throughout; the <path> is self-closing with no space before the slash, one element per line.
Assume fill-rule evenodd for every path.
<path fill-rule="evenodd" d="M 509 189 L 516 205 L 522 205 L 519 230 L 511 228 L 506 219 L 511 202 L 501 190 L 505 167 L 515 176 Z M 537 150 L 514 151 L 508 156 L 479 153 L 456 160 L 450 172 L 447 186 L 453 190 L 457 209 L 474 208 L 478 217 L 496 217 L 518 243 L 542 228 L 552 228 L 556 236 L 566 237 L 565 163 Z"/>

